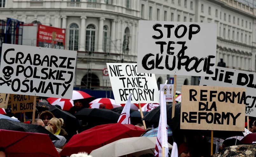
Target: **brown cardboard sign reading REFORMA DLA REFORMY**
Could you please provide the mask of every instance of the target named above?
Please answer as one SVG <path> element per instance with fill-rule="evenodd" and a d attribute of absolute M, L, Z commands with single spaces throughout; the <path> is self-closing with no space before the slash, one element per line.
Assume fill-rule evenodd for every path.
<path fill-rule="evenodd" d="M 181 129 L 245 130 L 246 88 L 182 85 Z"/>

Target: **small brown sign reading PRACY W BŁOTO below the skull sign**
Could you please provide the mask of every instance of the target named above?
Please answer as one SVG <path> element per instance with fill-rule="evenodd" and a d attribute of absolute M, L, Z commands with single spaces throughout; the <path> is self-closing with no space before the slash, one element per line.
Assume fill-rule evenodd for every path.
<path fill-rule="evenodd" d="M 11 113 L 32 112 L 34 96 L 10 94 L 8 105 L 11 105 Z"/>

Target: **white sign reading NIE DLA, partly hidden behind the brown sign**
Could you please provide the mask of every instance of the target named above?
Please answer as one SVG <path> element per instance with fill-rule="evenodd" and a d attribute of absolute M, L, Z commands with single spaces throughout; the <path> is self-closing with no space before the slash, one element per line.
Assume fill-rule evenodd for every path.
<path fill-rule="evenodd" d="M 246 87 L 246 116 L 256 117 L 256 73 L 216 66 L 213 77 L 201 77 L 199 85 Z"/>

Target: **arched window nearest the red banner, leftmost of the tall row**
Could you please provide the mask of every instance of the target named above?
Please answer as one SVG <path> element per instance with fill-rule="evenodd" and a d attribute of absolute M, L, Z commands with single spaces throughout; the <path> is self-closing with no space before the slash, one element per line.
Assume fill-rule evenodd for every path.
<path fill-rule="evenodd" d="M 72 23 L 69 27 L 69 50 L 78 50 L 78 42 L 79 42 L 79 27 L 77 24 Z"/>

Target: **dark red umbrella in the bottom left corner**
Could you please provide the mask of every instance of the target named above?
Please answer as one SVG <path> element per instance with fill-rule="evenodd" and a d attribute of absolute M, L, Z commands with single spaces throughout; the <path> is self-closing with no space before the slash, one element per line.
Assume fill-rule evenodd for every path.
<path fill-rule="evenodd" d="M 59 156 L 49 136 L 43 133 L 25 133 L 0 129 L 0 147 L 5 149 L 5 154 L 8 157 Z"/>

